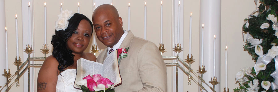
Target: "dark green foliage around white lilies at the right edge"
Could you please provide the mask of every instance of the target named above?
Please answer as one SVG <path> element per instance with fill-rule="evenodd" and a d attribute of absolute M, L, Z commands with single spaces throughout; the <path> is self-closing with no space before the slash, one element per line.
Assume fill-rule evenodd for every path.
<path fill-rule="evenodd" d="M 256 17 L 254 15 L 250 15 L 248 18 L 245 18 L 244 21 L 248 21 L 249 26 L 246 28 L 246 24 L 242 26 L 242 31 L 243 33 L 249 33 L 251 36 L 253 36 L 254 39 L 263 39 L 262 43 L 259 44 L 263 47 L 263 54 L 267 54 L 268 50 L 272 48 L 273 45 L 278 46 L 278 39 L 277 36 L 275 36 L 275 31 L 272 29 L 273 22 L 271 20 L 267 20 L 267 17 L 269 14 L 273 14 L 275 17 L 278 17 L 278 3 L 277 0 L 259 0 L 258 2 L 259 7 L 259 14 Z M 269 27 L 267 29 L 260 29 L 260 26 L 263 23 L 268 23 Z M 244 51 L 247 51 L 251 56 L 254 62 L 257 61 L 258 55 L 255 53 L 255 47 L 248 48 L 252 46 L 251 43 L 249 43 L 246 40 L 245 45 L 243 46 Z M 267 64 L 266 69 L 263 71 L 259 71 L 259 73 L 256 75 L 254 67 L 252 68 L 251 71 L 251 76 L 250 75 L 245 75 L 245 77 L 248 79 L 248 81 L 241 84 L 239 84 L 239 87 L 234 89 L 234 92 L 246 92 L 248 87 L 247 82 L 253 81 L 254 79 L 259 80 L 259 86 L 262 81 L 269 81 L 273 82 L 274 79 L 270 76 L 270 74 L 275 71 L 275 63 L 274 59 L 270 63 Z M 263 91 L 262 87 L 259 88 L 259 92 Z M 267 90 L 267 92 L 273 92 L 271 88 Z M 277 90 L 275 90 L 277 91 Z"/>

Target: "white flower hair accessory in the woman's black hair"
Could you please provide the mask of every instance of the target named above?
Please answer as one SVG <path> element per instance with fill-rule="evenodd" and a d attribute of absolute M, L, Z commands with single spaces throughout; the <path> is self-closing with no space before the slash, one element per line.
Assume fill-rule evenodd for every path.
<path fill-rule="evenodd" d="M 61 13 L 58 15 L 58 20 L 56 21 L 56 30 L 64 30 L 68 27 L 69 25 L 69 19 L 73 16 L 72 11 L 69 10 L 63 10 Z"/>

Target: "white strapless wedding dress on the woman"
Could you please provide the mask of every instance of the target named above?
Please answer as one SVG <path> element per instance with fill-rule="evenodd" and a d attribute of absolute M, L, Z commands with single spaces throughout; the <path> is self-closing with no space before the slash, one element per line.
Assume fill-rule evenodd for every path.
<path fill-rule="evenodd" d="M 67 69 L 61 72 L 61 75 L 58 75 L 57 92 L 82 92 L 82 90 L 74 88 L 76 69 Z"/>

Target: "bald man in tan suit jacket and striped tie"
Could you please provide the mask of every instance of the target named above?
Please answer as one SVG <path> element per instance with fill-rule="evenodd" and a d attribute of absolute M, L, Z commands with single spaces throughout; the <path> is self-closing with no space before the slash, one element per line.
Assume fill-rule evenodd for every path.
<path fill-rule="evenodd" d="M 116 92 L 166 92 L 166 66 L 156 45 L 123 29 L 122 18 L 112 5 L 101 5 L 93 13 L 98 39 L 107 46 L 97 58 L 103 60 L 117 48 L 128 48 L 127 57 L 119 62 L 122 84 Z"/>

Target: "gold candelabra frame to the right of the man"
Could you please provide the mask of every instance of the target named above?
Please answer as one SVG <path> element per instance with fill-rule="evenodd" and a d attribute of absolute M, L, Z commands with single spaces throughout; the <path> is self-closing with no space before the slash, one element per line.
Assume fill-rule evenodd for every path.
<path fill-rule="evenodd" d="M 159 51 L 160 52 L 162 52 L 162 51 L 164 51 L 164 50 L 162 50 L 162 47 L 163 47 L 163 49 L 164 49 L 164 44 L 159 44 Z M 166 66 L 172 66 L 172 67 L 174 67 L 174 66 L 176 66 L 176 92 L 178 92 L 178 68 L 180 68 L 187 76 L 188 76 L 188 85 L 191 85 L 191 82 L 193 81 L 193 82 L 195 82 L 198 86 L 200 86 L 200 91 L 201 92 L 203 92 L 203 90 L 204 91 L 206 91 L 206 92 L 208 92 L 208 90 L 206 90 L 205 88 L 204 88 L 204 86 L 203 86 L 203 83 L 205 84 L 205 85 L 207 85 L 213 92 L 216 92 L 215 90 L 214 90 L 214 86 L 215 85 L 217 85 L 219 82 L 217 82 L 217 78 L 216 77 L 213 77 L 213 79 L 210 81 L 210 83 L 213 85 L 213 87 L 211 87 L 211 86 L 209 86 L 208 85 L 208 83 L 207 82 L 205 82 L 204 81 L 204 79 L 203 79 L 203 74 L 204 73 L 206 73 L 207 71 L 205 70 L 205 66 L 204 65 L 202 65 L 202 66 L 199 66 L 199 70 L 198 70 L 198 72 L 197 73 L 199 73 L 199 74 L 197 74 L 195 71 L 193 71 L 193 69 L 191 68 L 191 64 L 192 63 L 194 63 L 195 61 L 195 59 L 193 59 L 193 56 L 192 56 L 192 54 L 189 56 L 189 54 L 187 55 L 187 59 L 185 59 L 186 61 L 183 61 L 180 57 L 179 57 L 179 52 L 181 52 L 181 50 L 183 49 L 183 48 L 181 48 L 181 44 L 177 44 L 177 45 L 175 45 L 175 48 L 173 48 L 175 51 L 176 51 L 176 53 L 177 53 L 177 56 L 162 56 L 163 57 L 163 59 L 172 59 L 172 60 L 177 60 L 175 63 L 165 63 L 166 64 Z M 162 53 L 161 53 L 162 54 Z M 181 62 L 181 63 L 183 63 L 183 66 L 185 66 L 186 68 L 188 68 L 188 71 L 187 70 L 185 70 L 185 68 L 183 68 L 183 66 L 181 66 L 180 64 L 179 64 L 179 62 Z M 192 76 L 192 74 L 194 75 L 194 76 L 196 76 L 196 78 L 194 78 L 193 76 Z M 198 79 L 200 80 L 200 82 L 198 82 Z M 225 89 L 224 89 L 224 91 L 225 91 Z"/>

